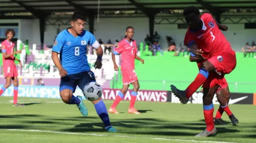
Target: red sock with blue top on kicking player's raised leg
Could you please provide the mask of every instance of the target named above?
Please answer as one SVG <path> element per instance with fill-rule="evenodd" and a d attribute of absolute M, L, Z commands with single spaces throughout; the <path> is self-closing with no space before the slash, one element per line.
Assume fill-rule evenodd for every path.
<path fill-rule="evenodd" d="M 199 74 L 195 77 L 195 80 L 185 90 L 187 98 L 190 98 L 192 94 L 206 81 L 209 73 L 206 70 L 200 70 Z"/>

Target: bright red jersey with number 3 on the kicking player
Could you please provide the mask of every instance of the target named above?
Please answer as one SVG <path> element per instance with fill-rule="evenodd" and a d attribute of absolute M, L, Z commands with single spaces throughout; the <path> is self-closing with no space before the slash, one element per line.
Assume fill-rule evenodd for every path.
<path fill-rule="evenodd" d="M 204 51 L 203 57 L 206 59 L 232 51 L 230 43 L 222 31 L 219 30 L 212 15 L 203 14 L 201 20 L 203 21 L 202 30 L 188 30 L 185 34 L 184 44 L 190 47 L 190 44 L 195 42 Z"/>

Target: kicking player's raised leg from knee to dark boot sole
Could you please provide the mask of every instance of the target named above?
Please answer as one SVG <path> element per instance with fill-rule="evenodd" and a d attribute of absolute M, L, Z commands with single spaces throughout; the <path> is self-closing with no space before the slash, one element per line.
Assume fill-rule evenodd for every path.
<path fill-rule="evenodd" d="M 195 80 L 188 86 L 185 91 L 179 90 L 174 85 L 171 85 L 171 90 L 180 101 L 185 104 L 189 101 L 192 94 L 207 80 L 211 71 L 215 71 L 214 65 L 210 61 L 203 62 L 203 66 L 199 71 L 199 74 L 195 77 Z"/>

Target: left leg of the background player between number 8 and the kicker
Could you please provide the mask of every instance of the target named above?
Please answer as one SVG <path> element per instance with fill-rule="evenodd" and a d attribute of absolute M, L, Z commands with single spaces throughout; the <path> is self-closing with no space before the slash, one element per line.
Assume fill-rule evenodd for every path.
<path fill-rule="evenodd" d="M 117 107 L 119 102 L 124 98 L 124 95 L 128 91 L 129 86 L 130 86 L 130 84 L 123 84 L 121 91 L 118 93 L 117 97 L 115 97 L 115 100 L 109 109 L 110 113 L 118 114 L 118 111 L 117 111 L 117 109 L 115 109 L 115 107 Z"/>

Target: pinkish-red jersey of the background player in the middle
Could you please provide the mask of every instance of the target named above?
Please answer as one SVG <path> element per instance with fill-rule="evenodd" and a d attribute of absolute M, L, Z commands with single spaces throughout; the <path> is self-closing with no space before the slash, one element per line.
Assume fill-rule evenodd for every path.
<path fill-rule="evenodd" d="M 136 41 L 130 43 L 126 38 L 118 43 L 114 54 L 121 54 L 121 71 L 134 70 L 134 60 L 137 53 Z"/>

